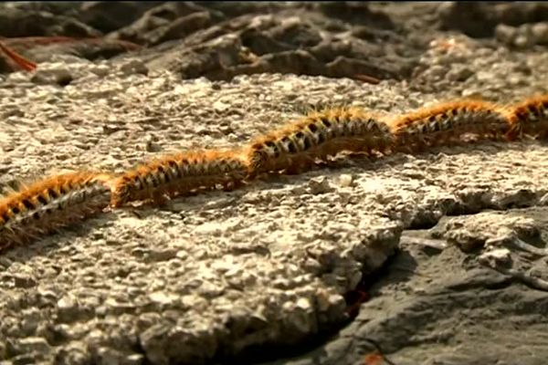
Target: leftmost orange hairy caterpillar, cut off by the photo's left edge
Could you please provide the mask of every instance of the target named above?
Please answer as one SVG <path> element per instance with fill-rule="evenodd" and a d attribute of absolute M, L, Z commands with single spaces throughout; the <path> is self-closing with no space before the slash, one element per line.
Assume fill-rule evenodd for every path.
<path fill-rule="evenodd" d="M 109 205 L 111 176 L 69 172 L 49 176 L 0 200 L 0 251 L 97 214 Z"/>

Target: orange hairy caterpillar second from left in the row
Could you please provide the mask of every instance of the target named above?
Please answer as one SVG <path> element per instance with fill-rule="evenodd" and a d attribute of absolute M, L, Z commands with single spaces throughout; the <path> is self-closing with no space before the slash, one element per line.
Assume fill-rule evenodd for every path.
<path fill-rule="evenodd" d="M 231 189 L 248 175 L 248 162 L 239 151 L 189 151 L 143 163 L 112 183 L 113 207 L 133 201 L 164 203 L 184 193 L 221 184 Z"/>

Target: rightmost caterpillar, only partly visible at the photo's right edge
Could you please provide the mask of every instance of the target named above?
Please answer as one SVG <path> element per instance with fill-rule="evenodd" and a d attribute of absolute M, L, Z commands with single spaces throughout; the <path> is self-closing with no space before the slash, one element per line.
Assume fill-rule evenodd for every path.
<path fill-rule="evenodd" d="M 523 134 L 535 138 L 548 137 L 548 94 L 525 99 L 509 111 L 509 137 L 513 140 Z"/>

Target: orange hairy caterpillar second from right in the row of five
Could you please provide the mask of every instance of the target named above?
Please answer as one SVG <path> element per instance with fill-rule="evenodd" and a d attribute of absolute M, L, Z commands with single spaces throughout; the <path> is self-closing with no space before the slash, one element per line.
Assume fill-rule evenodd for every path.
<path fill-rule="evenodd" d="M 479 139 L 501 139 L 509 120 L 495 104 L 479 100 L 450 101 L 397 117 L 392 123 L 395 150 L 420 151 L 450 145 L 465 134 Z"/>

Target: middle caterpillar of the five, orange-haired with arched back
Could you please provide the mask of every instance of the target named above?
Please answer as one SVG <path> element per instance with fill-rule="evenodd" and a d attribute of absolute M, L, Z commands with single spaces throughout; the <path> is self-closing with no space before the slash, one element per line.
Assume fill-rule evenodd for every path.
<path fill-rule="evenodd" d="M 341 151 L 384 153 L 392 134 L 381 117 L 359 108 L 315 111 L 251 141 L 248 160 L 254 174 L 297 173 Z"/>

